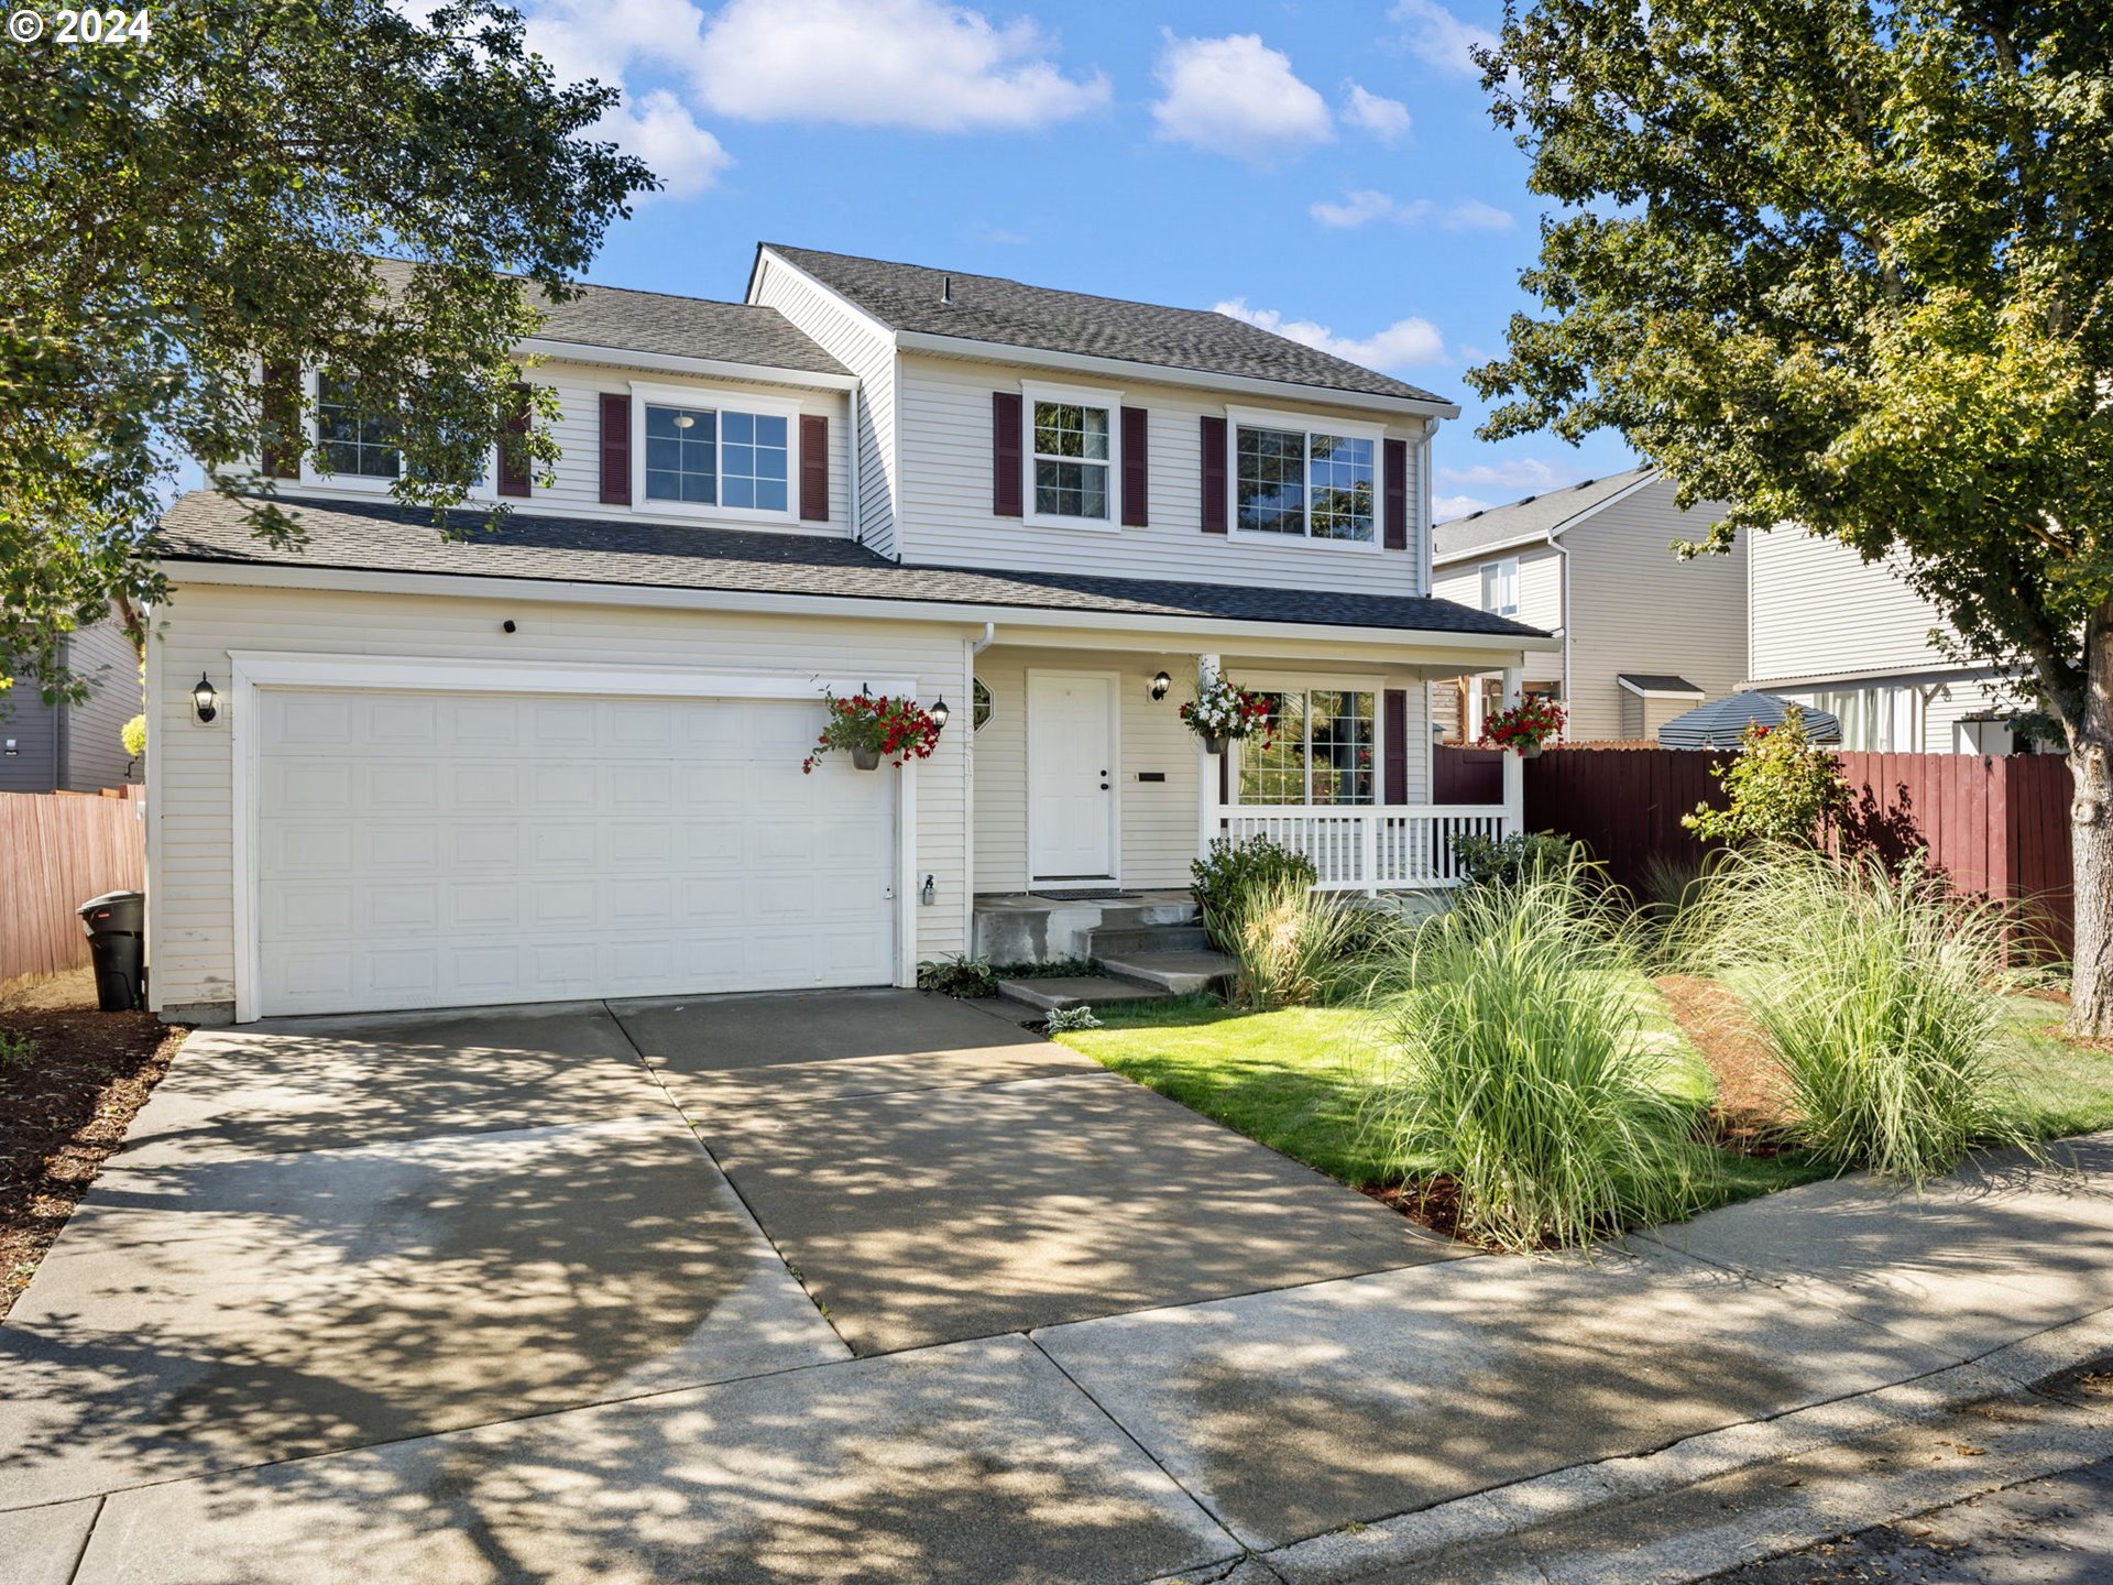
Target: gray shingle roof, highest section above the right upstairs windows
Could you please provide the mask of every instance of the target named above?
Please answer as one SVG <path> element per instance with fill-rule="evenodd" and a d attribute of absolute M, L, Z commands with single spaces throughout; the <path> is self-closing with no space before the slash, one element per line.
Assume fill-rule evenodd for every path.
<path fill-rule="evenodd" d="M 1276 336 L 1223 313 L 1095 298 L 923 264 L 822 254 L 763 243 L 788 264 L 856 302 L 885 325 L 1002 347 L 1120 357 L 1130 363 L 1240 374 L 1363 395 L 1445 402 L 1420 385 L 1376 374 L 1342 357 Z M 951 290 L 953 304 L 942 302 Z"/>

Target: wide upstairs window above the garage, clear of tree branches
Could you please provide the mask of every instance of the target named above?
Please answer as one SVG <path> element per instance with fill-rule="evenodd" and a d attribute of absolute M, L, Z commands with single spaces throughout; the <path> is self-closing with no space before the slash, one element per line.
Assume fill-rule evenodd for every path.
<path fill-rule="evenodd" d="M 729 516 L 792 516 L 797 408 L 682 391 L 640 391 L 638 408 L 642 501 Z"/>

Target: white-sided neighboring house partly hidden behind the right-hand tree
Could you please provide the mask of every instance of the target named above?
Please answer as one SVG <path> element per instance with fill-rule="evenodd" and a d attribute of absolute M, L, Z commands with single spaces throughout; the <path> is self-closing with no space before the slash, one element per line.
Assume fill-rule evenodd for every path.
<path fill-rule="evenodd" d="M 1747 683 L 1843 723 L 1843 748 L 2007 754 L 2014 693 L 1940 636 L 1950 623 L 1895 564 L 1800 528 L 1756 535 Z"/>

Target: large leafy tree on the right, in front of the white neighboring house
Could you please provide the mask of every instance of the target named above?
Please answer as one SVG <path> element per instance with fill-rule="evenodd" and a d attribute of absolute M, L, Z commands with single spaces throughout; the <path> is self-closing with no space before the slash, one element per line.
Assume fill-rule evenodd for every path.
<path fill-rule="evenodd" d="M 1538 0 L 1483 53 L 1555 201 L 1488 437 L 1619 431 L 1714 533 L 1902 566 L 2075 771 L 2113 1033 L 2113 6 Z"/>

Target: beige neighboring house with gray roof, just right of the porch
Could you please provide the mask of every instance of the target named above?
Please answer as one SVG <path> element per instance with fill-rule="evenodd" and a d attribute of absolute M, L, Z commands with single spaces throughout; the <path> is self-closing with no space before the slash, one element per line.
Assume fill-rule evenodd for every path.
<path fill-rule="evenodd" d="M 1568 740 L 1648 740 L 1745 676 L 1745 543 L 1690 562 L 1671 552 L 1712 522 L 1635 467 L 1441 522 L 1431 590 L 1562 636 L 1528 661 L 1526 691 L 1564 706 Z M 1433 721 L 1473 742 L 1498 697 L 1490 672 L 1447 678 Z"/>

